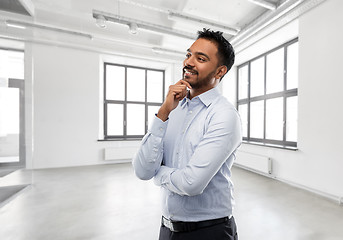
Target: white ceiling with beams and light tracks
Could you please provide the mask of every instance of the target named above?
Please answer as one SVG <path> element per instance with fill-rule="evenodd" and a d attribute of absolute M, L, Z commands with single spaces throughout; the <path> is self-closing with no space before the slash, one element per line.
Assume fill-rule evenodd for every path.
<path fill-rule="evenodd" d="M 224 31 L 224 35 L 238 45 L 243 38 L 301 4 L 314 2 L 255 1 L 275 9 L 252 0 L 0 0 L 0 47 L 1 40 L 14 39 L 127 54 L 149 55 L 154 49 L 177 56 L 189 47 L 196 32 L 203 27 L 217 30 L 220 24 L 234 29 L 236 33 Z M 173 19 L 171 12 L 196 21 Z M 107 21 L 106 28 L 100 28 L 95 24 L 95 13 L 115 16 L 118 22 L 136 23 L 137 33 L 130 33 L 127 24 L 118 22 Z M 162 30 L 149 30 L 142 24 Z"/>

